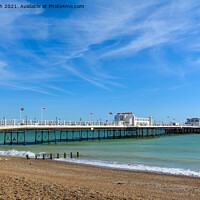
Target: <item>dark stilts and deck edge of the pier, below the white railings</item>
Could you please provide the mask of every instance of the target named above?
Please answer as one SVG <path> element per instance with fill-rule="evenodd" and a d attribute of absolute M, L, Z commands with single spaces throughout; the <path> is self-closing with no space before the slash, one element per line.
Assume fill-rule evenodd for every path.
<path fill-rule="evenodd" d="M 0 143 L 6 145 L 57 143 L 83 140 L 103 140 L 120 138 L 148 138 L 167 135 L 200 134 L 200 127 L 183 126 L 96 126 L 96 127 L 63 127 L 63 126 L 23 126 L 3 127 L 0 129 Z M 32 136 L 31 141 L 27 136 Z"/>

